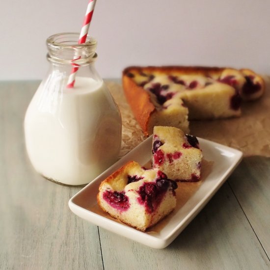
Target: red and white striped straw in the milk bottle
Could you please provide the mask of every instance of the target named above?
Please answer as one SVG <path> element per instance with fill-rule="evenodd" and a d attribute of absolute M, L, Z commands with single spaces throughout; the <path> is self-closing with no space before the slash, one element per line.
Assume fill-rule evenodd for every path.
<path fill-rule="evenodd" d="M 81 27 L 81 33 L 80 33 L 80 37 L 79 37 L 79 41 L 78 44 L 82 44 L 86 41 L 86 37 L 87 37 L 87 33 L 88 33 L 88 29 L 92 20 L 92 16 L 94 13 L 94 8 L 95 8 L 95 4 L 96 4 L 96 0 L 89 0 L 89 3 L 87 5 L 87 9 L 86 9 L 86 13 L 84 16 L 84 21 Z M 78 60 L 80 59 L 81 56 L 79 57 L 75 57 L 73 60 Z M 79 69 L 79 65 L 78 64 L 74 64 L 71 74 L 68 78 L 68 82 L 67 82 L 67 88 L 73 88 L 74 87 L 74 83 L 75 83 L 75 76 L 76 73 Z"/>

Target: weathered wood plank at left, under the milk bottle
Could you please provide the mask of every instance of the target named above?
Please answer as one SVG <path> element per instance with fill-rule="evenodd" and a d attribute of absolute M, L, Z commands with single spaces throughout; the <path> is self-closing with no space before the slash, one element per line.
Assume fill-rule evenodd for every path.
<path fill-rule="evenodd" d="M 43 179 L 27 159 L 23 119 L 38 82 L 0 85 L 0 269 L 103 269 L 98 228 L 68 208 L 81 188 Z"/>

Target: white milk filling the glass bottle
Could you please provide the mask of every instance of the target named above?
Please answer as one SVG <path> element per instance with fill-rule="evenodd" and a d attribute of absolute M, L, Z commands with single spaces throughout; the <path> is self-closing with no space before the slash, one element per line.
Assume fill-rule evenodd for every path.
<path fill-rule="evenodd" d="M 87 184 L 117 160 L 121 116 L 103 81 L 77 77 L 70 89 L 64 83 L 41 83 L 30 102 L 27 152 L 44 177 L 66 185 Z"/>

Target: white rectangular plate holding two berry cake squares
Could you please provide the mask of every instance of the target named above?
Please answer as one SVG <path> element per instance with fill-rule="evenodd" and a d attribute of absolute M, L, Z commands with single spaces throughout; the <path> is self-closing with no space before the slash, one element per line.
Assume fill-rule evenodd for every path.
<path fill-rule="evenodd" d="M 202 163 L 202 180 L 196 183 L 179 183 L 176 189 L 180 192 L 177 191 L 177 199 L 180 197 L 176 209 L 149 231 L 140 232 L 112 219 L 99 209 L 96 197 L 100 183 L 126 162 L 136 161 L 143 166 L 151 160 L 152 136 L 74 195 L 69 200 L 71 211 L 93 224 L 139 243 L 153 248 L 166 247 L 200 212 L 242 159 L 242 152 L 236 149 L 202 138 L 198 140 L 206 161 Z M 208 167 L 207 172 L 204 171 L 204 165 Z"/>

